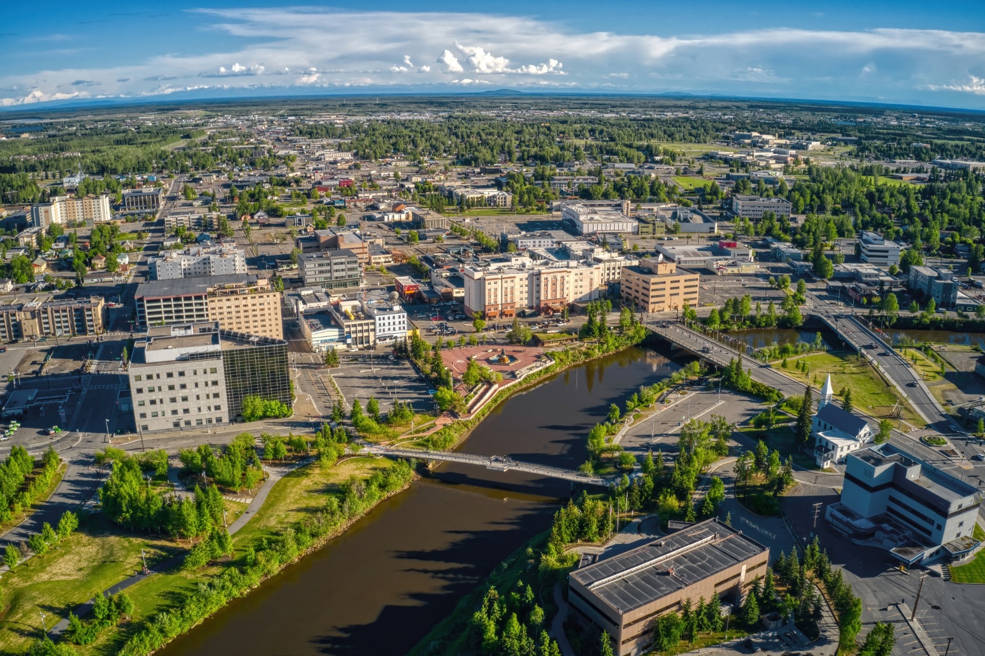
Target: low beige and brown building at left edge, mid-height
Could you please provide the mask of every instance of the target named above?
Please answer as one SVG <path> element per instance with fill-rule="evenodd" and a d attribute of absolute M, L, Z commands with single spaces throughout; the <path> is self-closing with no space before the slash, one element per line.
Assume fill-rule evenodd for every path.
<path fill-rule="evenodd" d="M 0 305 L 0 340 L 76 337 L 105 332 L 101 296 L 32 300 Z"/>

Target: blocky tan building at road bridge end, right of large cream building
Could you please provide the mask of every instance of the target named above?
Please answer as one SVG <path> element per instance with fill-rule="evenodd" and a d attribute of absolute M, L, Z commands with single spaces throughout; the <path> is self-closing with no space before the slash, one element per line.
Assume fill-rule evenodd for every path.
<path fill-rule="evenodd" d="M 687 303 L 697 304 L 701 277 L 687 269 L 678 269 L 663 256 L 643 258 L 633 267 L 623 267 L 623 300 L 644 312 L 679 310 Z"/>

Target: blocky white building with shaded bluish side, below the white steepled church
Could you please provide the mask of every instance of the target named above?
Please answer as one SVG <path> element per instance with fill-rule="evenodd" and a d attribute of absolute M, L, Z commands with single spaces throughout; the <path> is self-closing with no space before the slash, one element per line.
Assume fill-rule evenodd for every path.
<path fill-rule="evenodd" d="M 858 544 L 913 564 L 965 558 L 981 492 L 893 444 L 848 455 L 841 501 L 825 517 Z"/>

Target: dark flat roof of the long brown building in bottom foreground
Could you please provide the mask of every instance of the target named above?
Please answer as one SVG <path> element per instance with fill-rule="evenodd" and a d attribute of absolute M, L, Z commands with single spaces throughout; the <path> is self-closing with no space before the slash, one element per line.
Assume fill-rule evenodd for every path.
<path fill-rule="evenodd" d="M 570 577 L 625 614 L 768 551 L 709 519 L 576 569 Z"/>

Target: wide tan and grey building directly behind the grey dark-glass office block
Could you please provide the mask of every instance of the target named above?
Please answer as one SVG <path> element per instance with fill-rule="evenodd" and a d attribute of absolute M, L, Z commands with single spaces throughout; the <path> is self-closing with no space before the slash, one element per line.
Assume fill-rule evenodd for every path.
<path fill-rule="evenodd" d="M 216 321 L 223 330 L 284 337 L 281 293 L 254 275 L 141 283 L 134 300 L 142 328 Z"/>

